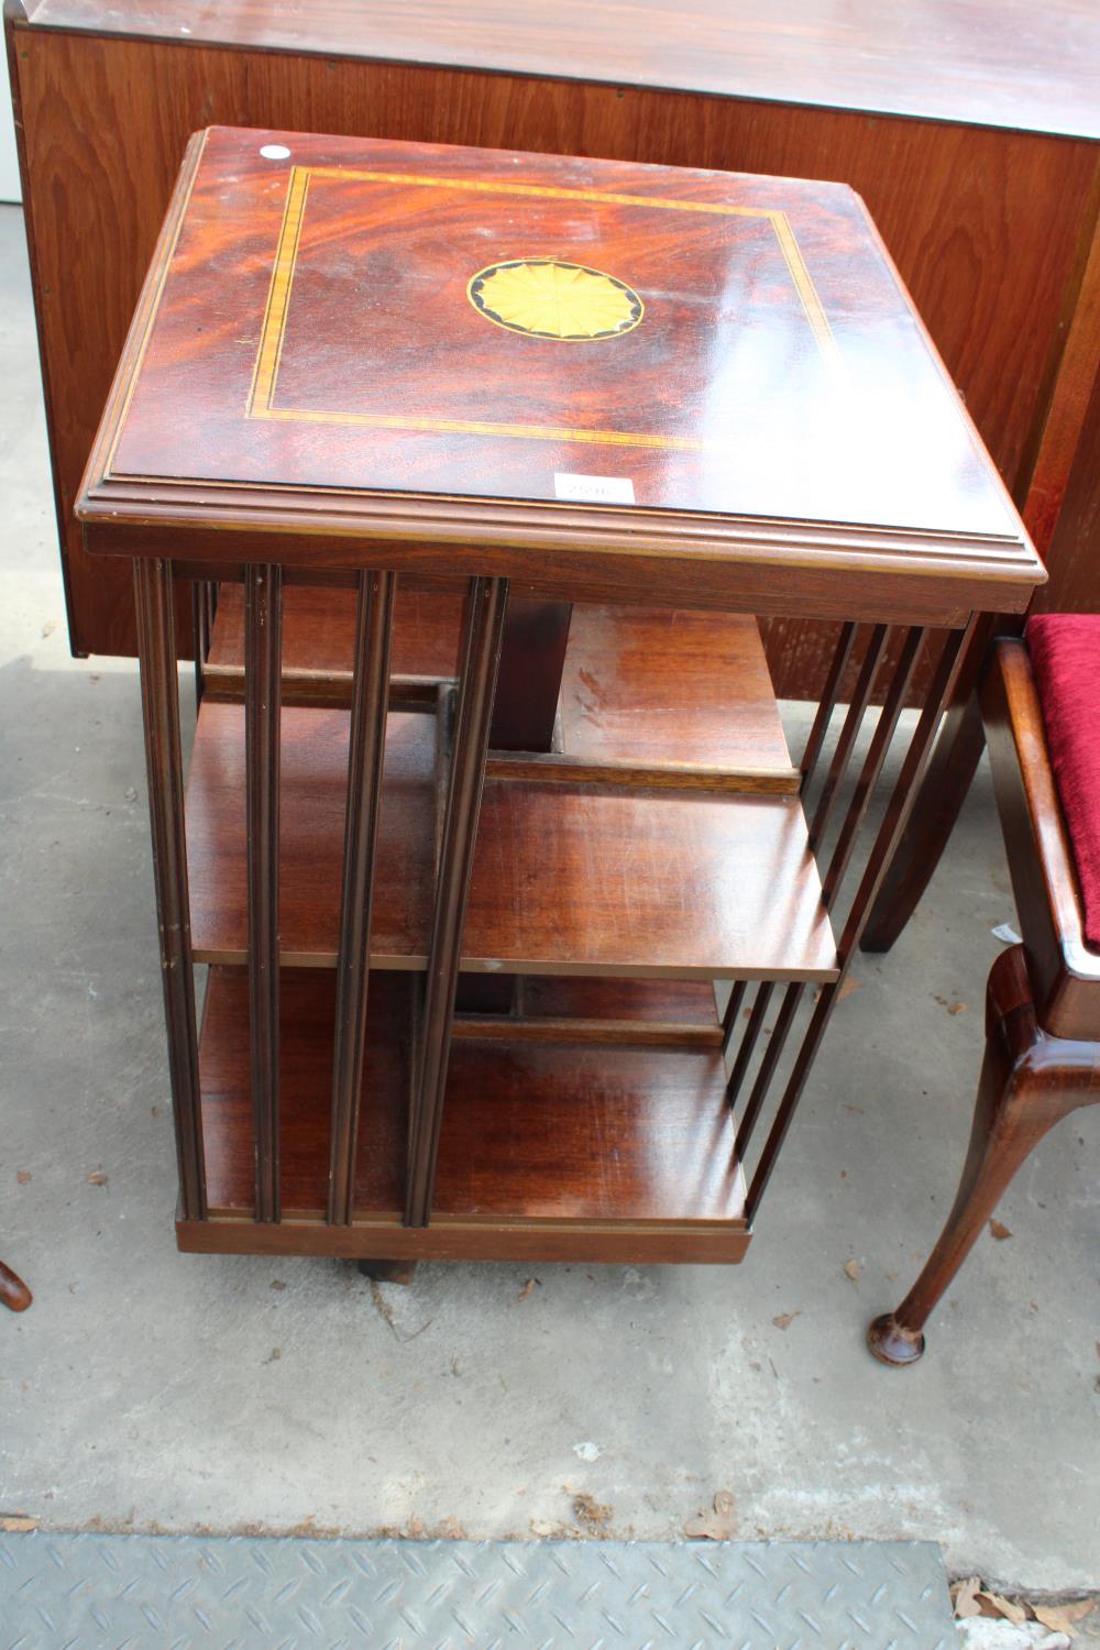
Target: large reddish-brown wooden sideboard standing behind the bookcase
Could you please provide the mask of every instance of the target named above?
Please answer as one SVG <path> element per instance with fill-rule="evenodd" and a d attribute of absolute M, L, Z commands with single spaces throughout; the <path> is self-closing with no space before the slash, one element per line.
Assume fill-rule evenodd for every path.
<path fill-rule="evenodd" d="M 69 634 L 132 653 L 129 574 L 73 503 L 188 137 L 213 122 L 478 144 L 853 185 L 1022 508 L 1097 602 L 1100 13 L 1092 0 L 8 0 Z M 830 639 L 765 625 L 777 690 Z M 186 634 L 185 634 L 186 632 Z M 180 650 L 190 647 L 181 614 Z"/>

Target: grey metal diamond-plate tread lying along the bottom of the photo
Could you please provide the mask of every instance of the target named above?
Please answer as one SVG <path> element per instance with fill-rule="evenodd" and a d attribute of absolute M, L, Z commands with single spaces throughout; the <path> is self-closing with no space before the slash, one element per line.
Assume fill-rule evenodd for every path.
<path fill-rule="evenodd" d="M 0 1534 L 0 1650 L 950 1650 L 924 1541 Z"/>

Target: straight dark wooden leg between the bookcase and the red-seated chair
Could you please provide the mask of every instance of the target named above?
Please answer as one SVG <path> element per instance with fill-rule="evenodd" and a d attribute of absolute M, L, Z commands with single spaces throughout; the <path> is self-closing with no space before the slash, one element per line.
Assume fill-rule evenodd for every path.
<path fill-rule="evenodd" d="M 861 950 L 889 950 L 920 904 L 966 800 L 985 742 L 981 710 L 971 693 L 947 713 L 909 825 L 871 908 Z"/>

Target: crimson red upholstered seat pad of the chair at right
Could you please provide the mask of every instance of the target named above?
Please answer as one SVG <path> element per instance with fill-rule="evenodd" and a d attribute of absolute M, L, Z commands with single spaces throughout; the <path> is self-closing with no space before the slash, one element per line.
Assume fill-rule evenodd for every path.
<path fill-rule="evenodd" d="M 1100 950 L 1100 615 L 1037 614 L 1027 650 L 1077 865 L 1085 940 Z"/>

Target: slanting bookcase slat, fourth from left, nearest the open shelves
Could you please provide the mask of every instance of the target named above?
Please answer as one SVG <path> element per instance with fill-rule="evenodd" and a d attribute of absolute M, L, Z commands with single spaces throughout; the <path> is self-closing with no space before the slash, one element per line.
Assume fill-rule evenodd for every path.
<path fill-rule="evenodd" d="M 425 1226 L 432 1206 L 455 988 L 462 959 L 462 924 L 473 870 L 485 756 L 506 609 L 506 579 L 478 578 L 470 581 L 455 742 L 427 954 L 419 1081 L 409 1140 L 406 1204 L 409 1226 Z"/>

